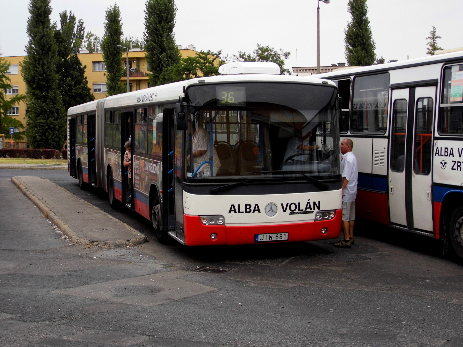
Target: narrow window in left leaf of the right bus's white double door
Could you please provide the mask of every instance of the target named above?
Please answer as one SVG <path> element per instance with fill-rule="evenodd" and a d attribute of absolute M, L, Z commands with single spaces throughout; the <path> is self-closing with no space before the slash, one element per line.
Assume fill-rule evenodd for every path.
<path fill-rule="evenodd" d="M 394 101 L 392 115 L 391 170 L 404 171 L 405 134 L 407 133 L 407 100 Z"/>

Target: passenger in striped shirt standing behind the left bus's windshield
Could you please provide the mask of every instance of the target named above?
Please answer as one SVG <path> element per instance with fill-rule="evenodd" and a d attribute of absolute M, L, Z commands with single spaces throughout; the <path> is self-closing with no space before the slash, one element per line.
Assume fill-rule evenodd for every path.
<path fill-rule="evenodd" d="M 188 122 L 188 132 L 191 130 L 191 121 Z M 209 133 L 202 126 L 195 127 L 193 125 L 193 161 L 194 170 L 196 170 L 203 161 L 209 161 L 210 157 L 210 144 L 209 144 Z M 213 155 L 213 176 L 217 175 L 220 167 L 220 160 L 214 145 L 212 146 Z M 190 156 L 188 155 L 187 161 L 190 162 Z M 211 175 L 211 169 L 209 164 L 204 164 L 200 167 L 197 173 L 198 176 L 209 177 Z"/>

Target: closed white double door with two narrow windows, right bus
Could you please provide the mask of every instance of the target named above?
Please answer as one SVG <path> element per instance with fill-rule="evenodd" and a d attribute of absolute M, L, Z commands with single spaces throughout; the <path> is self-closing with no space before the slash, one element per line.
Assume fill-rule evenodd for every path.
<path fill-rule="evenodd" d="M 436 87 L 392 92 L 389 151 L 391 223 L 432 233 L 432 118 Z"/>

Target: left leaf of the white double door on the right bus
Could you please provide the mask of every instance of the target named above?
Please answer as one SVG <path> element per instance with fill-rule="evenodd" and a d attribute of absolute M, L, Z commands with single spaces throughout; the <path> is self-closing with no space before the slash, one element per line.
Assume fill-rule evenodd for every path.
<path fill-rule="evenodd" d="M 389 142 L 389 211 L 391 223 L 407 226 L 405 162 L 409 89 L 392 91 L 392 121 Z"/>

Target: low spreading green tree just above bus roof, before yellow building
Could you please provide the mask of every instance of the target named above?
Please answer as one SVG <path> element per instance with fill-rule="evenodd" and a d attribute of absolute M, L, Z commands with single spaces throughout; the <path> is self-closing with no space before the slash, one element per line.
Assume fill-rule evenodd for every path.
<path fill-rule="evenodd" d="M 181 58 L 180 63 L 163 70 L 159 76 L 158 85 L 218 75 L 219 66 L 224 63 L 220 57 L 221 53 L 221 51 L 214 53 L 208 50 L 207 52 L 196 52 L 195 56 Z"/>

